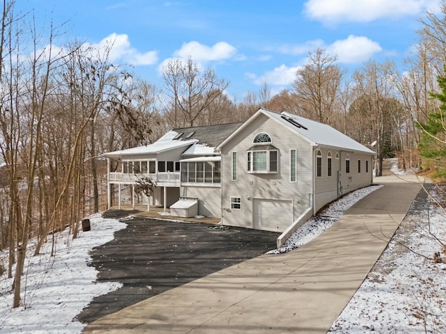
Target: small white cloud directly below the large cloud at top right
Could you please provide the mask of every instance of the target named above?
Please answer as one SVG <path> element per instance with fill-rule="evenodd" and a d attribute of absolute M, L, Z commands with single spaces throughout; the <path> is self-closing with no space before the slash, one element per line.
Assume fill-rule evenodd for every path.
<path fill-rule="evenodd" d="M 327 51 L 336 54 L 339 63 L 351 64 L 369 60 L 373 54 L 382 51 L 382 48 L 367 37 L 349 35 L 345 40 L 337 40 L 329 45 Z"/>

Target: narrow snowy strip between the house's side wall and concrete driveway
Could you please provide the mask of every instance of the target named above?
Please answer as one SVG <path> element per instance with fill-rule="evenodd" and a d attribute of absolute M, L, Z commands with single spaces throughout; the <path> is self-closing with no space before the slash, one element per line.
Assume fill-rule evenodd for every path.
<path fill-rule="evenodd" d="M 382 187 L 382 185 L 367 186 L 362 189 L 357 189 L 339 198 L 339 200 L 330 203 L 330 205 L 321 210 L 321 212 L 318 212 L 317 216 L 313 216 L 303 223 L 302 226 L 300 226 L 300 228 L 298 228 L 298 230 L 285 242 L 284 246 L 270 250 L 267 254 L 286 253 L 309 243 L 309 241 L 312 241 L 319 234 L 336 223 L 342 214 L 355 204 L 355 202 L 369 195 L 369 193 L 380 189 L 380 187 Z"/>

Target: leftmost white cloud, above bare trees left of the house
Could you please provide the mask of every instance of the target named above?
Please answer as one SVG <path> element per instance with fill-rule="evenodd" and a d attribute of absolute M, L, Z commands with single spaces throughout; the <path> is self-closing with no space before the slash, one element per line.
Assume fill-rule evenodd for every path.
<path fill-rule="evenodd" d="M 141 53 L 130 45 L 128 35 L 125 33 L 112 33 L 98 43 L 99 47 L 112 45 L 110 61 L 123 61 L 132 65 L 153 65 L 157 62 L 157 51 Z"/>

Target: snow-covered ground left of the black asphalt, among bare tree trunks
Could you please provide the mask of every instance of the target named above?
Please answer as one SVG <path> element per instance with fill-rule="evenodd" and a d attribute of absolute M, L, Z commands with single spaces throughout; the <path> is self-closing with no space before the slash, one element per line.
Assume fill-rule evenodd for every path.
<path fill-rule="evenodd" d="M 56 256 L 52 257 L 52 237 L 33 256 L 35 244 L 29 245 L 22 280 L 22 305 L 12 308 L 13 280 L 3 273 L 0 279 L 0 333 L 81 333 L 86 324 L 75 318 L 95 296 L 121 287 L 120 283 L 96 283 L 98 271 L 89 267 L 90 250 L 114 238 L 114 232 L 125 223 L 105 219 L 96 214 L 89 217 L 91 231 L 79 231 L 72 239 L 68 229 L 54 234 Z M 7 269 L 6 254 L 0 261 Z"/>

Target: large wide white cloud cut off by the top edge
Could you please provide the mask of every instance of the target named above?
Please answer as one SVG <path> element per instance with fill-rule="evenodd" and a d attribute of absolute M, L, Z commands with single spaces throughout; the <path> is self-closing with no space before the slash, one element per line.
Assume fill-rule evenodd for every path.
<path fill-rule="evenodd" d="M 397 18 L 420 15 L 437 8 L 441 0 L 308 0 L 304 4 L 307 16 L 318 21 L 371 22 L 384 17 Z"/>

